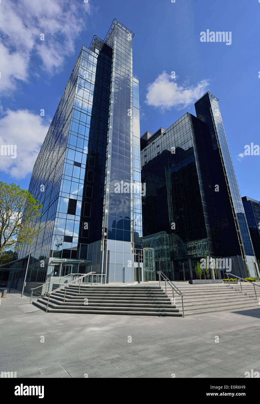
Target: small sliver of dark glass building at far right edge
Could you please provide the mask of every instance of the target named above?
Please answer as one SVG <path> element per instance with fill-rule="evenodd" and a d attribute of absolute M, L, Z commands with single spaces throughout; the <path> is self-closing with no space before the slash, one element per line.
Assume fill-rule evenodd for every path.
<path fill-rule="evenodd" d="M 256 259 L 260 261 L 260 201 L 243 196 L 242 202 Z"/>

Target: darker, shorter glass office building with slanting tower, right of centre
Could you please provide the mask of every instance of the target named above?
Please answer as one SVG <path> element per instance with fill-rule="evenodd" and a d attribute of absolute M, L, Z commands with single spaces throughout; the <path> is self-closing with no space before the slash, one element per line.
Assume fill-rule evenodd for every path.
<path fill-rule="evenodd" d="M 141 137 L 143 246 L 154 248 L 155 270 L 161 265 L 174 280 L 196 278 L 195 264 L 207 257 L 230 258 L 237 276 L 253 275 L 256 259 L 218 99 L 206 93 L 195 109 L 197 117 L 186 113 L 167 130 Z"/>

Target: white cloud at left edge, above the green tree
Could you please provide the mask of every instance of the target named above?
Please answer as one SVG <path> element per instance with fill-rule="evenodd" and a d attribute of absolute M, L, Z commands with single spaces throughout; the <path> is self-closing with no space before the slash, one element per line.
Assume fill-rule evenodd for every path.
<path fill-rule="evenodd" d="M 0 155 L 0 170 L 17 179 L 24 178 L 32 172 L 49 125 L 27 109 L 8 109 L 5 114 L 0 119 L 0 147 L 16 145 L 17 157 Z"/>

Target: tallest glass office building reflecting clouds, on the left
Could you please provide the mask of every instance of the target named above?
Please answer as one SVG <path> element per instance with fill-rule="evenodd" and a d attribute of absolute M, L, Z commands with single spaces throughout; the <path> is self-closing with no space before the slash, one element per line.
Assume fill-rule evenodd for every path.
<path fill-rule="evenodd" d="M 32 172 L 43 215 L 28 282 L 89 271 L 103 282 L 134 280 L 142 214 L 133 36 L 114 20 L 104 40 L 82 46 Z"/>

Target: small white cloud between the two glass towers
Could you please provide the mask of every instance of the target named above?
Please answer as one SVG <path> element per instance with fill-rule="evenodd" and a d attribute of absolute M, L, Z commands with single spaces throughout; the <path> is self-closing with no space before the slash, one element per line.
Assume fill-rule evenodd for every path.
<path fill-rule="evenodd" d="M 197 101 L 205 93 L 208 84 L 208 80 L 201 80 L 197 86 L 178 85 L 170 74 L 163 72 L 148 84 L 146 103 L 160 109 L 182 109 Z"/>

